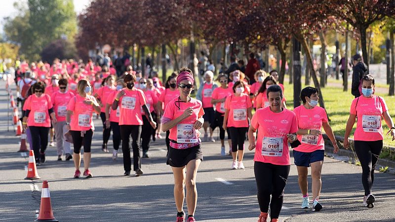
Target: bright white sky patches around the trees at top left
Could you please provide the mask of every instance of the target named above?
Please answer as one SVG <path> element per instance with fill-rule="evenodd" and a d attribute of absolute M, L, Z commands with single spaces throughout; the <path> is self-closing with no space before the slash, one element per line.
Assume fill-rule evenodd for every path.
<path fill-rule="evenodd" d="M 27 0 L 0 0 L 0 33 L 3 33 L 3 18 L 4 17 L 13 17 L 16 14 L 16 10 L 14 8 L 14 2 L 27 1 Z M 77 12 L 77 15 L 89 5 L 91 0 L 73 0 L 74 2 L 74 10 Z"/>

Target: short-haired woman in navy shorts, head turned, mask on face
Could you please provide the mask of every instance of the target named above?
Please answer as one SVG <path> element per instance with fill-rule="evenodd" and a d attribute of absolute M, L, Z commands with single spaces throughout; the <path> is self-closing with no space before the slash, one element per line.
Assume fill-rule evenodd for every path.
<path fill-rule="evenodd" d="M 321 204 L 318 202 L 321 192 L 321 170 L 324 161 L 324 140 L 322 138 L 321 128 L 328 135 L 334 153 L 337 153 L 339 147 L 336 144 L 335 135 L 328 123 L 326 111 L 318 104 L 318 90 L 313 87 L 302 89 L 300 99 L 303 105 L 295 108 L 293 111 L 298 120 L 298 140 L 301 145 L 293 149 L 293 157 L 296 168 L 298 169 L 298 182 L 300 191 L 302 191 L 302 208 L 310 208 L 308 194 L 307 175 L 309 167 L 312 168 L 312 191 L 313 191 L 313 211 L 320 211 Z"/>

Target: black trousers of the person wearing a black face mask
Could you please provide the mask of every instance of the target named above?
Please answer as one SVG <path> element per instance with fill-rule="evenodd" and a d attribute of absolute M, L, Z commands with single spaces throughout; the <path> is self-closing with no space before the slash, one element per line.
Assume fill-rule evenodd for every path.
<path fill-rule="evenodd" d="M 130 135 L 132 136 L 133 170 L 141 169 L 140 135 L 141 125 L 119 125 L 120 138 L 122 139 L 123 169 L 131 170 Z"/>

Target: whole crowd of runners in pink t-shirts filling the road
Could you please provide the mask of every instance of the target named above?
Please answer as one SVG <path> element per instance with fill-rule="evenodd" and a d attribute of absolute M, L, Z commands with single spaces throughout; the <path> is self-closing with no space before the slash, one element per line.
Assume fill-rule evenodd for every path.
<path fill-rule="evenodd" d="M 55 59 L 52 65 L 39 62 L 20 66 L 15 81 L 23 110 L 23 131 L 34 150 L 37 165 L 45 163 L 49 143 L 56 146 L 59 161 L 73 159 L 74 178 L 92 177 L 89 170 L 95 131 L 92 120 L 100 116 L 103 152 L 112 152 L 109 158 L 116 160 L 121 147 L 124 175 L 131 174 L 133 163 L 135 176 L 141 176 L 141 158 L 150 156 L 151 140 L 161 138 L 160 133 L 165 132 L 167 164 L 174 176 L 176 221 L 193 222 L 197 205 L 196 175 L 204 153 L 201 144 L 215 142 L 213 132 L 218 127 L 221 141 L 218 153 L 232 156 L 230 169 L 244 169 L 246 138 L 248 149 L 255 149 L 259 222 L 266 222 L 268 218 L 278 221 L 291 165 L 289 147 L 293 148 L 299 175 L 301 207 L 322 209 L 319 203 L 324 160 L 321 129 L 331 141 L 334 152 L 339 147 L 326 111 L 317 106 L 316 88 L 304 88 L 300 95 L 303 104 L 290 111 L 286 108 L 284 86 L 278 83 L 276 70 L 267 74 L 258 69 L 247 77 L 239 69 L 218 75 L 207 70 L 201 73 L 201 82 L 194 88 L 197 74 L 187 68 L 161 82 L 155 72 L 143 75 L 128 66 L 124 73 L 117 73 L 111 62 L 108 65 L 99 66 L 91 60 L 84 64 Z M 383 148 L 381 120 L 390 128 L 387 135 L 392 139 L 395 139 L 395 126 L 384 99 L 374 95 L 373 76 L 365 75 L 360 85 L 361 95 L 350 101 L 344 147 L 349 147 L 348 137 L 356 122 L 354 138 L 362 166 L 363 204 L 372 208 L 374 169 Z M 200 135 L 200 128 L 204 135 Z M 225 132 L 228 143 L 225 143 Z M 113 147 L 109 148 L 111 134 Z M 82 147 L 83 171 L 80 168 Z M 313 179 L 310 196 L 309 167 Z M 187 217 L 183 211 L 184 189 Z"/>

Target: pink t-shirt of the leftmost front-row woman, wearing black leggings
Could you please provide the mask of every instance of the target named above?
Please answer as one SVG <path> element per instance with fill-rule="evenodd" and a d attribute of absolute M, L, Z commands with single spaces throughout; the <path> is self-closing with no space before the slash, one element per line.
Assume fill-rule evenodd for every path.
<path fill-rule="evenodd" d="M 26 110 L 30 110 L 28 126 L 51 126 L 48 110 L 52 108 L 52 103 L 47 94 L 42 94 L 41 97 L 37 97 L 36 94 L 29 96 L 24 107 Z"/>

